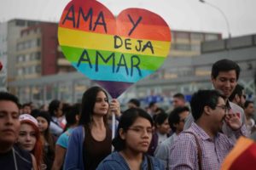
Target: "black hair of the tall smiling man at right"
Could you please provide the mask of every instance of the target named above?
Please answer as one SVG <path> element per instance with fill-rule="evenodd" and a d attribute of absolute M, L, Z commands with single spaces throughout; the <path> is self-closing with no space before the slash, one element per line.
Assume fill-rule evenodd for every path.
<path fill-rule="evenodd" d="M 220 71 L 236 71 L 236 81 L 240 75 L 240 66 L 230 59 L 220 59 L 212 65 L 212 78 L 218 77 Z"/>

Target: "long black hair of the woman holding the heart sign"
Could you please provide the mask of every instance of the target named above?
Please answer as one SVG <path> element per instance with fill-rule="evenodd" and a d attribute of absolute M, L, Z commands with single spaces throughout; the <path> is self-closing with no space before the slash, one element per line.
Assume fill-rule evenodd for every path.
<path fill-rule="evenodd" d="M 91 87 L 88 88 L 84 94 L 83 94 L 83 98 L 82 98 L 82 103 L 81 103 L 81 116 L 79 119 L 79 125 L 85 125 L 85 126 L 89 126 L 90 122 L 92 121 L 92 115 L 93 115 L 93 110 L 94 110 L 94 106 L 96 104 L 96 96 L 99 92 L 103 92 L 104 94 L 106 94 L 106 97 L 108 99 L 108 94 L 107 92 L 100 87 Z M 108 117 L 103 116 L 104 119 L 104 123 L 107 125 L 108 124 Z"/>

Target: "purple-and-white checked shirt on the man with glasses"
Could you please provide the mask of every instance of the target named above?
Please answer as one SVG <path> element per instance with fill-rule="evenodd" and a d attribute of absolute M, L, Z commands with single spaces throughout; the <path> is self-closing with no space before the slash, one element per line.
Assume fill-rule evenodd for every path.
<path fill-rule="evenodd" d="M 235 132 L 236 137 L 245 134 L 245 125 Z M 202 150 L 202 169 L 219 169 L 224 157 L 233 148 L 235 142 L 225 134 L 218 133 L 214 140 L 199 126 L 192 123 L 185 132 L 194 133 Z M 169 169 L 199 169 L 195 137 L 190 133 L 180 133 L 170 148 Z"/>

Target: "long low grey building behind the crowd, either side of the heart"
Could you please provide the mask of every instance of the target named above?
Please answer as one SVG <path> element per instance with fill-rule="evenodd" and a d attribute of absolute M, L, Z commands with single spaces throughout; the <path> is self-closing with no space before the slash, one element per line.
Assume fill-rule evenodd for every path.
<path fill-rule="evenodd" d="M 161 96 L 163 104 L 172 105 L 172 95 L 177 92 L 190 96 L 199 89 L 211 89 L 211 68 L 218 59 L 232 59 L 241 66 L 239 83 L 245 87 L 247 98 L 255 100 L 256 35 L 202 42 L 201 52 L 202 54 L 193 57 L 170 57 L 155 75 L 127 89 L 119 98 L 121 103 L 126 103 L 128 99 L 134 97 L 145 99 Z M 36 101 L 44 104 L 50 99 L 61 99 L 73 103 L 80 101 L 84 90 L 92 85 L 95 85 L 94 82 L 79 72 L 73 72 L 11 82 L 10 88 L 17 89 L 17 95 L 23 102 Z M 27 87 L 30 90 L 24 93 L 22 89 Z M 35 88 L 37 90 L 33 91 Z"/>

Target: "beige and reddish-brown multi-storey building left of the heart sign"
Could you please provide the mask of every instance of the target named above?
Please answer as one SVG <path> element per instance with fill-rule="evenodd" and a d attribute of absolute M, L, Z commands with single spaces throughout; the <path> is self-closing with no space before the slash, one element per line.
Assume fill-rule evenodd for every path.
<path fill-rule="evenodd" d="M 15 80 L 74 71 L 59 48 L 56 23 L 40 22 L 20 31 L 16 43 Z"/>

